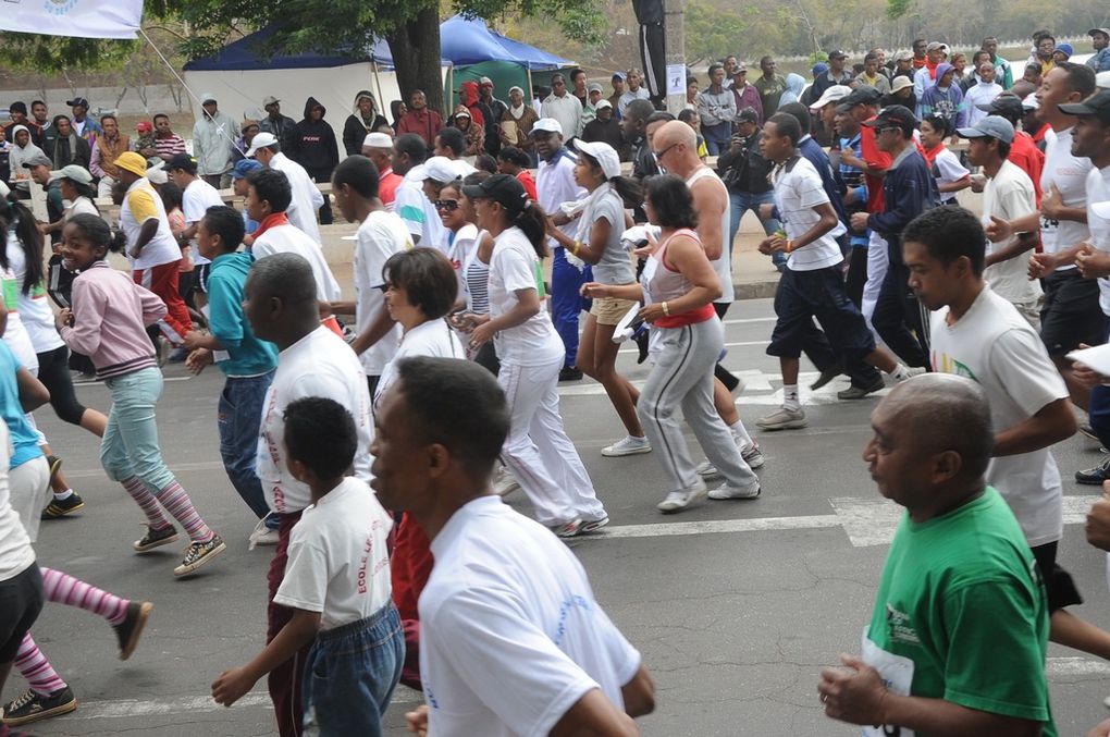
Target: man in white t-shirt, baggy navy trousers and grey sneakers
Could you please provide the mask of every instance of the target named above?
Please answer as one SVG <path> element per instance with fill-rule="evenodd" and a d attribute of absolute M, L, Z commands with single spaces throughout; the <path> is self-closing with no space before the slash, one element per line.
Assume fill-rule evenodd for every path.
<path fill-rule="evenodd" d="M 759 141 L 763 155 L 779 164 L 774 175 L 775 205 L 786 229 L 786 238 L 770 235 L 759 250 L 789 255 L 775 292 L 777 320 L 767 346 L 767 354 L 777 355 L 783 370 L 783 406 L 759 418 L 756 424 L 764 430 L 795 430 L 807 424 L 798 397 L 798 359 L 803 351 L 821 371 L 835 365 L 838 355 L 844 356 L 851 386 L 838 394 L 842 400 L 861 398 L 882 388 L 876 366 L 896 381 L 924 373 L 910 372 L 876 347 L 864 315 L 848 299 L 840 270 L 844 254 L 836 240 L 846 229 L 817 169 L 798 152 L 801 135 L 797 118 L 776 113 L 764 123 Z M 814 317 L 824 333 L 814 327 Z"/>

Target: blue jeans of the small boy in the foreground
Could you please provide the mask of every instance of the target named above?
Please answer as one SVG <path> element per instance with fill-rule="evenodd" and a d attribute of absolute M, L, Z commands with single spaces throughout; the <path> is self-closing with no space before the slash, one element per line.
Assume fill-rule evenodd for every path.
<path fill-rule="evenodd" d="M 392 602 L 316 635 L 304 666 L 305 733 L 381 737 L 404 662 L 404 630 Z"/>

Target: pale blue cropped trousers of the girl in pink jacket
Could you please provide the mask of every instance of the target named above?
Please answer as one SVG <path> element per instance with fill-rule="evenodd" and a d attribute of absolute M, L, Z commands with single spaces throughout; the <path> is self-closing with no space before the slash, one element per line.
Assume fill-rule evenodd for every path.
<path fill-rule="evenodd" d="M 104 380 L 112 408 L 100 444 L 100 465 L 121 482 L 138 476 L 155 496 L 173 481 L 158 444 L 154 405 L 162 396 L 162 372 L 154 366 Z"/>

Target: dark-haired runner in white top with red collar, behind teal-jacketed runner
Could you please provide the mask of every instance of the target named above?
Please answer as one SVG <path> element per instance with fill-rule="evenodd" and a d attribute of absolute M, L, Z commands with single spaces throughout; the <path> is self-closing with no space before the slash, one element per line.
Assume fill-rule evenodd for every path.
<path fill-rule="evenodd" d="M 312 264 L 316 281 L 316 299 L 320 302 L 335 302 L 340 299 L 340 284 L 335 281 L 320 243 L 304 231 L 293 225 L 286 216 L 292 193 L 285 174 L 262 169 L 246 178 L 246 196 L 243 208 L 246 215 L 259 223 L 251 243 L 251 253 L 256 260 L 275 253 L 295 253 Z"/>

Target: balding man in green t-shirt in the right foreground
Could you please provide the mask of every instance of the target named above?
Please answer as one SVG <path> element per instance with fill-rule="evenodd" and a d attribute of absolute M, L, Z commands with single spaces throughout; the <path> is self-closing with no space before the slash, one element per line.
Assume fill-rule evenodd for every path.
<path fill-rule="evenodd" d="M 969 378 L 917 376 L 879 403 L 871 428 L 864 461 L 906 514 L 862 655 L 821 672 L 826 716 L 864 735 L 1056 735 L 1045 587 L 983 477 L 995 448 L 987 394 Z"/>

